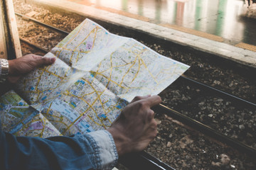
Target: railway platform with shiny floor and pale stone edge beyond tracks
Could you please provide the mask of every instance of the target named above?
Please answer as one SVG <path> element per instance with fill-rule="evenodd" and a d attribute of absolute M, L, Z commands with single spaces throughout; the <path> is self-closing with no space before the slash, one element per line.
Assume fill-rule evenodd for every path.
<path fill-rule="evenodd" d="M 248 18 L 247 1 L 33 1 L 36 2 L 256 67 L 256 20 Z"/>

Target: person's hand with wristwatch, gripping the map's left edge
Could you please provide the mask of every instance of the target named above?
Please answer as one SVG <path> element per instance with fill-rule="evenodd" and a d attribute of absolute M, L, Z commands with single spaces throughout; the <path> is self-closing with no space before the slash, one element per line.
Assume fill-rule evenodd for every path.
<path fill-rule="evenodd" d="M 15 60 L 8 60 L 9 62 L 9 77 L 11 83 L 16 83 L 18 79 L 28 72 L 31 72 L 36 67 L 53 64 L 55 58 L 42 57 L 40 55 L 25 55 Z"/>

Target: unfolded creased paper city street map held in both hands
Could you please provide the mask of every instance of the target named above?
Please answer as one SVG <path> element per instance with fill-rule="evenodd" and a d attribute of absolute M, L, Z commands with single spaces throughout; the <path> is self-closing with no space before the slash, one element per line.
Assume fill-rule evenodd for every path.
<path fill-rule="evenodd" d="M 159 94 L 189 68 L 89 19 L 44 57 L 57 60 L 20 79 L 17 94 L 1 96 L 5 131 L 50 137 L 107 129 L 135 96 Z"/>

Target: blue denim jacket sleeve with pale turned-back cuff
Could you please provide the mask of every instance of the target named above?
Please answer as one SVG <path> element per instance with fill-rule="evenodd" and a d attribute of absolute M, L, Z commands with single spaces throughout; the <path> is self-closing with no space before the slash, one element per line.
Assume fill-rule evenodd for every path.
<path fill-rule="evenodd" d="M 46 139 L 0 132 L 0 169 L 112 169 L 117 159 L 107 130 Z"/>

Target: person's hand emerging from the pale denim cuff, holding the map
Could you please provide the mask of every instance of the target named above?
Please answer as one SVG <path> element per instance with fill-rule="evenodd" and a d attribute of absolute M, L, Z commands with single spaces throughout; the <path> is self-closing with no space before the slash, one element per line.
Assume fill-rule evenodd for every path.
<path fill-rule="evenodd" d="M 114 138 L 119 156 L 142 151 L 157 135 L 151 107 L 161 103 L 159 96 L 137 96 L 127 105 L 108 131 Z"/>

